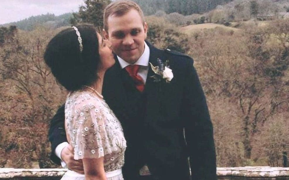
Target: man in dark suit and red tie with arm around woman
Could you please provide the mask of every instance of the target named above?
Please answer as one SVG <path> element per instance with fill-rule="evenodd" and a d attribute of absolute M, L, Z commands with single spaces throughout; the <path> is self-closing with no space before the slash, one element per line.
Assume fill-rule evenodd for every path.
<path fill-rule="evenodd" d="M 147 29 L 134 2 L 106 7 L 103 34 L 117 56 L 104 77 L 103 96 L 127 140 L 123 175 L 126 180 L 215 180 L 213 127 L 193 60 L 149 44 Z M 155 74 L 149 63 L 171 69 L 174 77 Z M 51 121 L 49 139 L 54 162 L 60 164 L 61 158 L 70 169 L 83 172 L 65 143 L 63 106 Z M 151 175 L 140 173 L 146 168 Z"/>

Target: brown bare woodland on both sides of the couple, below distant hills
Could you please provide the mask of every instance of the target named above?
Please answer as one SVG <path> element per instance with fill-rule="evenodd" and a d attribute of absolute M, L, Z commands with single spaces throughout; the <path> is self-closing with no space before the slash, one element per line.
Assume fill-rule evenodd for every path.
<path fill-rule="evenodd" d="M 214 125 L 219 167 L 282 166 L 289 151 L 289 21 L 217 27 L 191 34 L 148 17 L 149 41 L 194 58 Z M 49 160 L 50 118 L 64 102 L 43 61 L 57 30 L 18 31 L 0 48 L 0 166 L 55 167 Z"/>

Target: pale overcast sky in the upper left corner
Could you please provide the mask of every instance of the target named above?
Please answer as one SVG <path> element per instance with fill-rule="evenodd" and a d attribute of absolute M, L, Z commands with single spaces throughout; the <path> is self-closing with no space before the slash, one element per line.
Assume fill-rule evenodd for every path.
<path fill-rule="evenodd" d="M 84 0 L 0 0 L 0 24 L 19 21 L 32 15 L 61 15 L 78 11 Z"/>

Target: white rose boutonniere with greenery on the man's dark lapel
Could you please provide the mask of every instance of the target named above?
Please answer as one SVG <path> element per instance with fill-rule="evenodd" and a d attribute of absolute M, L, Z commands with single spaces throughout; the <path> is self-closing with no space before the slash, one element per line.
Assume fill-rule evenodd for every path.
<path fill-rule="evenodd" d="M 152 63 L 149 63 L 155 73 L 155 75 L 151 77 L 154 78 L 154 82 L 159 82 L 164 79 L 167 83 L 169 83 L 174 77 L 174 74 L 169 67 L 169 61 L 166 60 L 166 62 L 163 63 L 162 60 L 158 58 L 157 63 L 158 66 L 153 66 Z"/>

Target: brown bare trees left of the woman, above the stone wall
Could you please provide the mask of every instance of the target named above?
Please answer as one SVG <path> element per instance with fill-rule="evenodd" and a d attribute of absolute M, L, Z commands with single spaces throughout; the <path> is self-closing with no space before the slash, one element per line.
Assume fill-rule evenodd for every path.
<path fill-rule="evenodd" d="M 41 27 L 18 31 L 1 46 L 1 167 L 28 168 L 33 161 L 42 168 L 52 165 L 47 128 L 65 97 L 45 65 L 43 53 L 55 33 Z"/>

